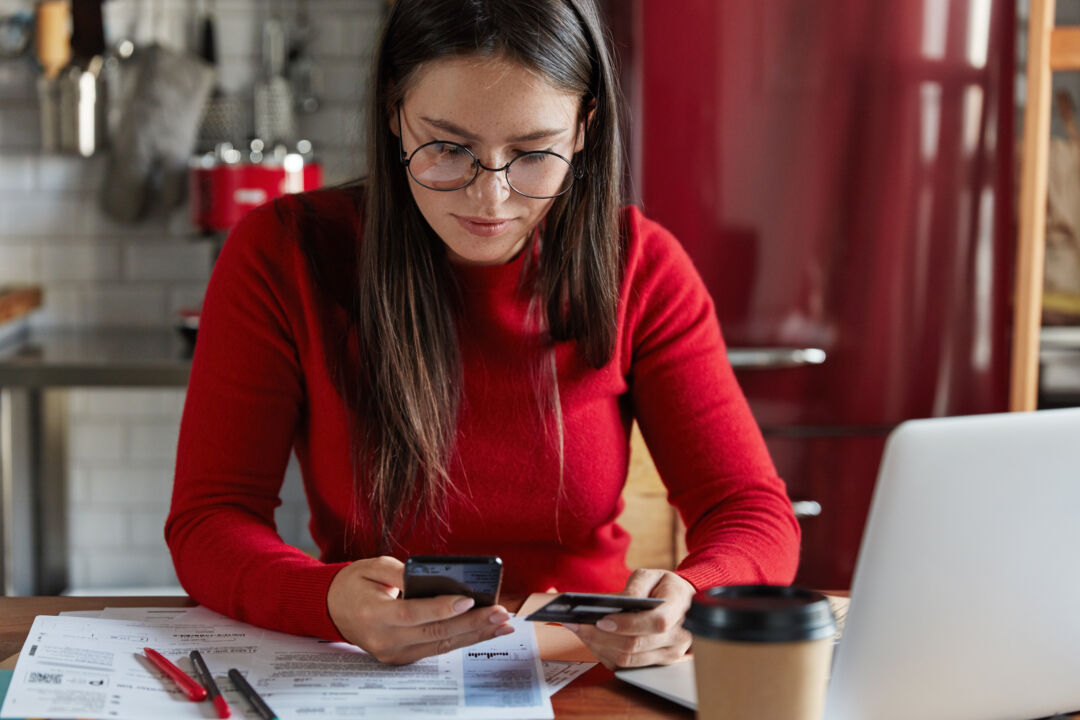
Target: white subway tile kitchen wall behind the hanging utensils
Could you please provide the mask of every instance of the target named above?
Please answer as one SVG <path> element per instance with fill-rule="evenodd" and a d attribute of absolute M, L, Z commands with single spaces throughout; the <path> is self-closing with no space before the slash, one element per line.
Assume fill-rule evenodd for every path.
<path fill-rule="evenodd" d="M 335 184 L 363 172 L 363 121 L 370 58 L 384 0 L 309 0 L 310 45 L 320 108 L 299 127 Z M 271 13 L 288 27 L 301 0 L 109 0 L 109 44 L 132 38 L 194 50 L 204 9 L 215 11 L 222 90 L 251 97 L 261 67 L 260 27 Z M 0 0 L 0 14 L 32 12 L 32 0 Z M 0 284 L 37 283 L 45 294 L 33 326 L 167 327 L 202 299 L 214 243 L 198 236 L 187 209 L 134 226 L 98 209 L 103 155 L 41 149 L 36 70 L 0 60 Z M 176 585 L 163 540 L 183 390 L 69 393 L 71 589 Z M 275 514 L 282 538 L 314 552 L 295 458 Z"/>

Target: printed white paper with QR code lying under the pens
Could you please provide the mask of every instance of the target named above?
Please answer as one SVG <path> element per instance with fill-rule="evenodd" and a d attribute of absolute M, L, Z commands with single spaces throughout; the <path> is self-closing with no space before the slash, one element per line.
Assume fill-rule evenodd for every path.
<path fill-rule="evenodd" d="M 226 673 L 238 668 L 282 720 L 291 718 L 552 718 L 531 623 L 515 631 L 407 666 L 362 650 L 262 630 L 203 608 L 183 613 L 124 610 L 114 617 L 35 620 L 0 718 L 207 718 L 143 656 L 158 650 L 192 674 L 206 660 L 233 715 L 257 716 Z M 565 671 L 564 671 L 565 675 Z"/>

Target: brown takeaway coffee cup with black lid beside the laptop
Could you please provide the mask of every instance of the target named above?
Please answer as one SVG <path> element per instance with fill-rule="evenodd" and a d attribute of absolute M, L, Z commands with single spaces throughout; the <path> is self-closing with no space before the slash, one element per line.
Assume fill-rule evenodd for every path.
<path fill-rule="evenodd" d="M 702 720 L 821 720 L 836 620 L 820 593 L 734 585 L 699 592 L 693 635 Z"/>

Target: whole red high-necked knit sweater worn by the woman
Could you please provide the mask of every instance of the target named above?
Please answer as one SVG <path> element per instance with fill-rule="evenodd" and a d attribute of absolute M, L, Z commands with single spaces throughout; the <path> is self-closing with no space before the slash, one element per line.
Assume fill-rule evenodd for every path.
<path fill-rule="evenodd" d="M 357 227 L 343 192 L 308 198 L 321 218 Z M 558 501 L 557 450 L 530 375 L 538 345 L 524 330 L 527 303 L 514 293 L 524 254 L 503 266 L 455 268 L 465 288 L 451 463 L 461 492 L 451 499 L 446 542 L 414 530 L 399 539 L 402 558 L 499 555 L 509 593 L 622 589 L 630 538 L 617 519 L 636 419 L 689 529 L 678 572 L 697 587 L 792 581 L 798 525 L 726 359 L 710 296 L 667 231 L 634 207 L 622 214 L 622 230 L 625 275 L 611 362 L 595 370 L 571 343 L 556 349 L 565 423 Z M 333 291 L 349 282 L 341 273 L 348 262 L 332 257 L 351 257 L 341 254 L 350 237 L 341 234 L 320 261 L 268 205 L 229 236 L 200 320 L 165 526 L 192 598 L 255 625 L 333 640 L 340 635 L 326 610 L 330 581 L 376 547 L 374 538 L 347 546 L 349 436 L 326 366 L 346 322 Z M 327 276 L 335 268 L 336 282 Z M 274 528 L 294 449 L 319 559 L 285 544 Z"/>

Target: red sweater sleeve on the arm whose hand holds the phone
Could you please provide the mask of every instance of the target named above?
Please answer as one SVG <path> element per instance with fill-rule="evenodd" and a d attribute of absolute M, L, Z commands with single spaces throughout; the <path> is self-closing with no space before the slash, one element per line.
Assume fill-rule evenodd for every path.
<path fill-rule="evenodd" d="M 165 540 L 198 602 L 260 627 L 340 640 L 326 593 L 345 565 L 287 545 L 273 519 L 305 396 L 286 310 L 298 253 L 288 247 L 268 205 L 237 226 L 215 263 Z"/>

